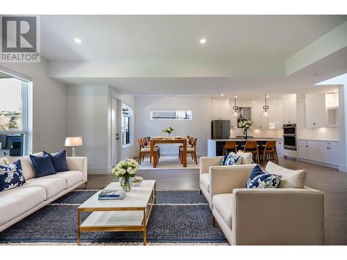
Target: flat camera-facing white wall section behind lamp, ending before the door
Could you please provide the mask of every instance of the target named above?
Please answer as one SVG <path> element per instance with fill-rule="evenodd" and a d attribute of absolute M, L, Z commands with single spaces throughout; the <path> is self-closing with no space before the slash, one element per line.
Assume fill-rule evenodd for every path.
<path fill-rule="evenodd" d="M 108 86 L 67 86 L 66 117 L 67 136 L 83 137 L 76 155 L 88 157 L 88 173 L 108 173 Z"/>

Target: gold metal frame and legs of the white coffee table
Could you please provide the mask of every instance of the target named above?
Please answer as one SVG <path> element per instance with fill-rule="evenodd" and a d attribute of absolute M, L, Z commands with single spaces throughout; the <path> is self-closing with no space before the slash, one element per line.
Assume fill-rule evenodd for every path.
<path fill-rule="evenodd" d="M 151 216 L 151 211 L 153 205 L 155 204 L 155 183 L 147 202 L 147 207 L 149 211 L 147 214 L 147 207 L 90 207 L 90 208 L 78 208 L 77 209 L 77 244 L 81 245 L 81 232 L 121 232 L 121 231 L 142 231 L 144 232 L 144 245 L 146 245 L 146 232 L 147 223 L 149 221 L 149 216 Z M 124 225 L 124 226 L 100 226 L 100 227 L 81 227 L 81 213 L 86 211 L 143 211 L 144 218 L 142 220 L 142 225 Z"/>

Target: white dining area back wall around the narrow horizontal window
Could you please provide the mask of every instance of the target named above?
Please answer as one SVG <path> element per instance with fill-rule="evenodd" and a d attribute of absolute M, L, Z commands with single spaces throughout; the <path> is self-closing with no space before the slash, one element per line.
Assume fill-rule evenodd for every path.
<path fill-rule="evenodd" d="M 151 121 L 151 110 L 192 110 L 193 119 L 191 121 Z M 174 128 L 174 135 L 197 137 L 198 156 L 207 155 L 207 140 L 211 136 L 211 98 L 138 96 L 135 111 L 136 141 L 146 136 L 162 136 L 164 135 L 162 129 L 171 126 Z M 174 145 L 162 145 L 161 150 L 163 154 L 178 154 L 178 148 Z"/>

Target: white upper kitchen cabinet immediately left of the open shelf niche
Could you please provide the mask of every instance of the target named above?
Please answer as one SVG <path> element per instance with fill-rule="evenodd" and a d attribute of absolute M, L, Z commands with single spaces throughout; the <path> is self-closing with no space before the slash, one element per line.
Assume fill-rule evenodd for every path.
<path fill-rule="evenodd" d="M 305 94 L 305 125 L 307 128 L 327 125 L 325 94 Z"/>

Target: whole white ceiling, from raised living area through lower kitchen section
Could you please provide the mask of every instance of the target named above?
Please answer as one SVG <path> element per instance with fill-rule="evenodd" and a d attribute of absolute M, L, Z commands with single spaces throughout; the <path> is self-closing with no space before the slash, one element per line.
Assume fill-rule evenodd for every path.
<path fill-rule="evenodd" d="M 62 63 L 52 78 L 66 85 L 110 85 L 120 94 L 256 98 L 324 92 L 334 87 L 314 84 L 347 73 L 347 46 L 287 76 L 285 62 L 345 21 L 347 15 L 42 15 L 41 53 L 49 69 Z M 207 42 L 200 44 L 203 37 Z M 156 67 L 146 66 L 151 62 Z M 269 72 L 266 62 L 279 65 Z M 211 76 L 225 68 L 252 73 Z M 170 76 L 175 69 L 189 76 Z M 131 73 L 138 74 L 126 76 Z"/>

